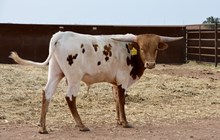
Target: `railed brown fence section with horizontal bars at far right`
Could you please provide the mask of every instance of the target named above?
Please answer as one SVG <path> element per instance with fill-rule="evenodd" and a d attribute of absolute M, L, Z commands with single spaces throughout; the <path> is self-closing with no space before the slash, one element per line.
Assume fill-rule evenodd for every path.
<path fill-rule="evenodd" d="M 186 60 L 220 62 L 220 25 L 199 24 L 186 26 Z"/>

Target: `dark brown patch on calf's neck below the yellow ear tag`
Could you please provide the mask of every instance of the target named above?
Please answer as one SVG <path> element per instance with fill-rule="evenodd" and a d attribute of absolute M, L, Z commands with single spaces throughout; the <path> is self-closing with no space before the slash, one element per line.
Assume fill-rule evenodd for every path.
<path fill-rule="evenodd" d="M 132 63 L 132 70 L 130 72 L 130 75 L 135 80 L 136 78 L 140 78 L 145 70 L 144 63 L 141 60 L 139 49 L 137 49 L 137 55 L 131 56 L 131 63 Z"/>

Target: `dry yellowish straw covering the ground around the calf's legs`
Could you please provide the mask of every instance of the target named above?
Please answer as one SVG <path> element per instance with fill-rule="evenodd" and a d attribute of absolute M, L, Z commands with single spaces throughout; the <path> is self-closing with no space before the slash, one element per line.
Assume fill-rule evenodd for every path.
<path fill-rule="evenodd" d="M 0 65 L 0 123 L 36 124 L 47 68 Z M 180 73 L 181 72 L 181 73 Z M 81 84 L 77 104 L 86 124 L 115 124 L 111 86 Z M 74 123 L 66 105 L 64 80 L 49 107 L 48 123 Z M 134 125 L 176 123 L 220 116 L 220 69 L 204 64 L 157 65 L 128 90 L 126 114 Z"/>

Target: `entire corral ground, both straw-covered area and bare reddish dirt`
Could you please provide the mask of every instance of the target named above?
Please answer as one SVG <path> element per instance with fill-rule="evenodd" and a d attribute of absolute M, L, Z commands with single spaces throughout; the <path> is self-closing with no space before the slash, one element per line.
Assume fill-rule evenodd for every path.
<path fill-rule="evenodd" d="M 116 125 L 109 84 L 81 83 L 77 106 L 90 132 L 80 132 L 68 110 L 62 80 L 49 107 L 49 134 L 37 133 L 47 67 L 0 65 L 0 140 L 23 139 L 220 139 L 220 67 L 190 62 L 158 64 L 127 92 L 126 114 L 134 128 Z"/>

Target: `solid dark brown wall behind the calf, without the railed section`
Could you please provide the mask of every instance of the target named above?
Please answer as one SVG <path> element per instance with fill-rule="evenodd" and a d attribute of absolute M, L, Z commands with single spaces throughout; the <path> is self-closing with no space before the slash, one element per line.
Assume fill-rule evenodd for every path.
<path fill-rule="evenodd" d="M 154 33 L 162 36 L 185 38 L 185 26 L 122 26 L 122 25 L 42 25 L 42 24 L 1 24 L 0 63 L 14 63 L 8 56 L 16 51 L 25 58 L 38 62 L 48 56 L 51 36 L 57 31 L 102 34 L 143 34 Z M 158 54 L 158 63 L 185 63 L 185 39 L 171 42 L 169 49 Z"/>

